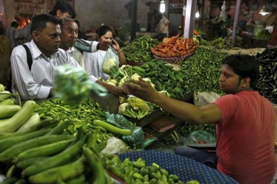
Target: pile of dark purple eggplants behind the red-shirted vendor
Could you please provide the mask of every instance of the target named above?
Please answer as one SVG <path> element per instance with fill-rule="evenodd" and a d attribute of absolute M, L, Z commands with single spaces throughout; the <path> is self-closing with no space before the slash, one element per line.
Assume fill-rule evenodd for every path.
<path fill-rule="evenodd" d="M 259 93 L 271 103 L 277 104 L 277 48 L 267 48 L 256 59 L 260 63 Z"/>

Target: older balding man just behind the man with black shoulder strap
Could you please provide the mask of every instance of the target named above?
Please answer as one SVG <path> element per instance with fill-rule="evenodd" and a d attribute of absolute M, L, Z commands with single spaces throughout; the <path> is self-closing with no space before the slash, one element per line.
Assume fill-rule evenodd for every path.
<path fill-rule="evenodd" d="M 60 35 L 61 43 L 59 48 L 65 50 L 83 69 L 85 69 L 82 53 L 74 48 L 79 30 L 77 23 L 71 18 L 62 18 L 60 19 L 60 26 L 62 33 Z"/>

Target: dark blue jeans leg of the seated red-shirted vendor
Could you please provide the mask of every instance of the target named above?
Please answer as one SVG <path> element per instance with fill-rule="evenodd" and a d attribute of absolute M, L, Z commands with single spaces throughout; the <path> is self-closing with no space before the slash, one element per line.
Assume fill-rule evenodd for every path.
<path fill-rule="evenodd" d="M 185 156 L 216 169 L 217 156 L 215 151 L 210 152 L 202 149 L 191 148 L 189 146 L 179 146 L 176 148 L 175 154 Z"/>

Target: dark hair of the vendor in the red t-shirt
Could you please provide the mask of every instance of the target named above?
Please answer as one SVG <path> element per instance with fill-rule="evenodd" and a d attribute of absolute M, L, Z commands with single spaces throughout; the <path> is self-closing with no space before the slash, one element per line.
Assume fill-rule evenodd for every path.
<path fill-rule="evenodd" d="M 257 85 L 260 76 L 259 62 L 253 56 L 246 54 L 230 55 L 224 58 L 221 64 L 227 64 L 235 74 L 239 75 L 240 79 L 249 77 L 251 88 L 254 89 Z"/>

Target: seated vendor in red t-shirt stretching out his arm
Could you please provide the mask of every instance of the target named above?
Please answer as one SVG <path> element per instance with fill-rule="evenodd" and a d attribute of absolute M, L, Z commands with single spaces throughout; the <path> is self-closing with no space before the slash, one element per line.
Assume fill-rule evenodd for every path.
<path fill-rule="evenodd" d="M 231 55 L 221 64 L 219 86 L 226 95 L 203 108 L 160 94 L 141 79 L 130 80 L 126 86 L 130 94 L 184 121 L 215 124 L 217 170 L 242 184 L 269 184 L 276 171 L 276 117 L 271 103 L 253 90 L 259 79 L 259 62 L 252 56 Z M 175 153 L 190 156 L 192 150 L 198 151 L 179 147 Z M 196 161 L 203 159 L 201 153 L 198 156 Z"/>

